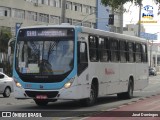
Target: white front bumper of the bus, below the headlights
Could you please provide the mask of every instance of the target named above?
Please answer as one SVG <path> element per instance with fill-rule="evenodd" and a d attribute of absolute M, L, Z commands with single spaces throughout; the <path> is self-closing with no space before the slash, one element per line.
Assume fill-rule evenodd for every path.
<path fill-rule="evenodd" d="M 72 86 L 68 89 L 59 90 L 34 90 L 15 87 L 14 96 L 17 99 L 36 99 L 37 95 L 45 95 L 47 99 L 77 100 L 89 97 L 89 89 L 88 85 Z"/>

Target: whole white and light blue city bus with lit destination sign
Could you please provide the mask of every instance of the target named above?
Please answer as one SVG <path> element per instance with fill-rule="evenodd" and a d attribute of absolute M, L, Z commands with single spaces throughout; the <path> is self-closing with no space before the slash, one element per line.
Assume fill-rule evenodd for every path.
<path fill-rule="evenodd" d="M 98 97 L 130 99 L 148 85 L 146 40 L 69 24 L 20 28 L 13 62 L 14 95 L 39 106 Z"/>

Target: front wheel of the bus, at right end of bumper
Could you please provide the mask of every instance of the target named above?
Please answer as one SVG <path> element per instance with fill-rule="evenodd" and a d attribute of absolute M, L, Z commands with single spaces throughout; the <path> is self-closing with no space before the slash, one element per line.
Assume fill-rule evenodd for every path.
<path fill-rule="evenodd" d="M 80 100 L 82 105 L 92 106 L 96 103 L 97 100 L 97 89 L 94 84 L 91 85 L 90 97 L 87 99 Z"/>

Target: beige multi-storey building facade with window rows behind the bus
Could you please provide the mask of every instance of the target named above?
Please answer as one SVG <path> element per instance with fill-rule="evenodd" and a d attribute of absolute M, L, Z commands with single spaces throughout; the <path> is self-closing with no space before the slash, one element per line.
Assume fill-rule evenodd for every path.
<path fill-rule="evenodd" d="M 0 27 L 60 24 L 64 0 L 0 0 Z M 96 0 L 65 0 L 65 22 L 95 28 Z M 93 14 L 95 13 L 95 14 Z"/>

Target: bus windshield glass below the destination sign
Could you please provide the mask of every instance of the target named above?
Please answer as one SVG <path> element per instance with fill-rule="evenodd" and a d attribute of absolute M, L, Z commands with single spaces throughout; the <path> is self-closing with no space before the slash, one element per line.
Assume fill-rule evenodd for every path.
<path fill-rule="evenodd" d="M 20 37 L 16 68 L 21 74 L 62 75 L 73 69 L 74 41 L 70 37 Z"/>

